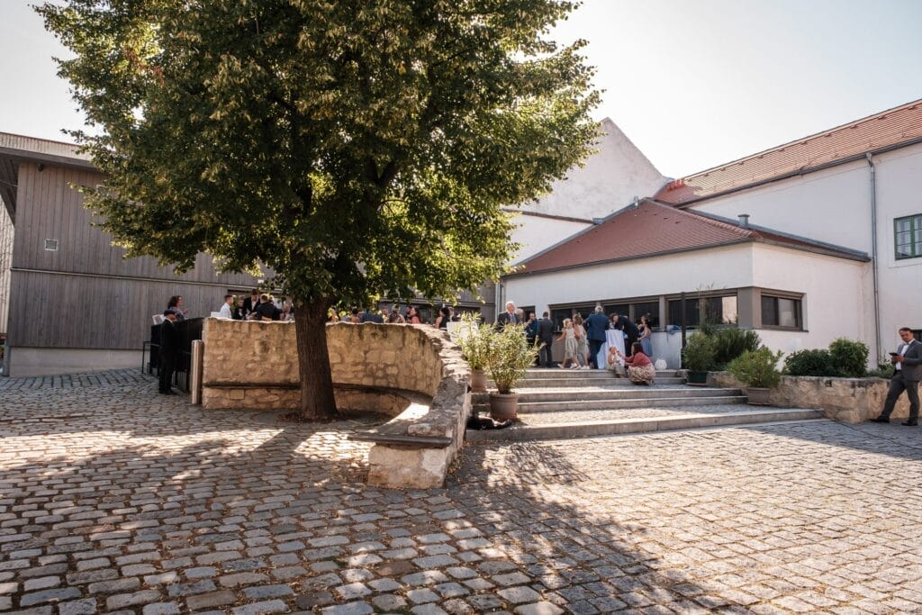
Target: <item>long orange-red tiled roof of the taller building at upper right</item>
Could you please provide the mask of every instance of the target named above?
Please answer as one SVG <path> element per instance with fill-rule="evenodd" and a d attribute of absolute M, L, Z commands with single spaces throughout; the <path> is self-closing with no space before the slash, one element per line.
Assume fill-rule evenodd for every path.
<path fill-rule="evenodd" d="M 670 205 L 684 205 L 917 138 L 922 138 L 922 101 L 907 102 L 851 124 L 674 180 L 661 188 L 655 198 Z"/>

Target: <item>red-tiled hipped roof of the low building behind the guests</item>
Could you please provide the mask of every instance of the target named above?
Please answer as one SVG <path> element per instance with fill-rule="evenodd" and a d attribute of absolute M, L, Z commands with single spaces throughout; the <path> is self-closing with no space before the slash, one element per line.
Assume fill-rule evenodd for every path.
<path fill-rule="evenodd" d="M 744 229 L 724 219 L 677 209 L 644 199 L 609 216 L 601 224 L 573 235 L 523 262 L 510 276 L 597 265 L 661 254 L 763 242 L 852 260 L 867 254 L 792 237 L 766 229 Z"/>

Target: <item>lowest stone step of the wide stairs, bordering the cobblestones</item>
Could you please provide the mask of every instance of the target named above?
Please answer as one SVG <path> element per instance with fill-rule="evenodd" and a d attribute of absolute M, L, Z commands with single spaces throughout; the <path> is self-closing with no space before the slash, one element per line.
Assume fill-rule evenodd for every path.
<path fill-rule="evenodd" d="M 751 408 L 751 407 L 748 407 Z M 732 427 L 792 420 L 822 419 L 822 410 L 804 408 L 734 408 L 722 412 L 709 408 L 698 408 L 696 412 L 683 414 L 672 412 L 662 416 L 585 420 L 573 422 L 551 422 L 529 424 L 528 415 L 511 427 L 500 430 L 467 430 L 469 442 L 522 442 L 527 440 L 559 440 L 568 438 L 589 438 L 593 436 L 649 433 L 701 429 L 708 427 Z"/>

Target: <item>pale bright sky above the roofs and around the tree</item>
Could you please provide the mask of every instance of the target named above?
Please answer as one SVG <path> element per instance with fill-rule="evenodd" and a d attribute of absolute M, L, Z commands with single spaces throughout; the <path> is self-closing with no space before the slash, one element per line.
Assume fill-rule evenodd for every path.
<path fill-rule="evenodd" d="M 0 132 L 68 140 L 34 1 L 0 0 Z M 588 41 L 597 119 L 682 177 L 922 99 L 920 25 L 920 0 L 585 0 L 552 38 Z"/>

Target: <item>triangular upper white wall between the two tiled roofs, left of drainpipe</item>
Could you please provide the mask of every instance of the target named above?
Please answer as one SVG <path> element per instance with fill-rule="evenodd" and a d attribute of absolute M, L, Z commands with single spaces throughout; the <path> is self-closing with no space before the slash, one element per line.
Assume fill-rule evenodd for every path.
<path fill-rule="evenodd" d="M 870 254 L 870 172 L 850 162 L 739 193 L 707 199 L 692 210 Z"/>

